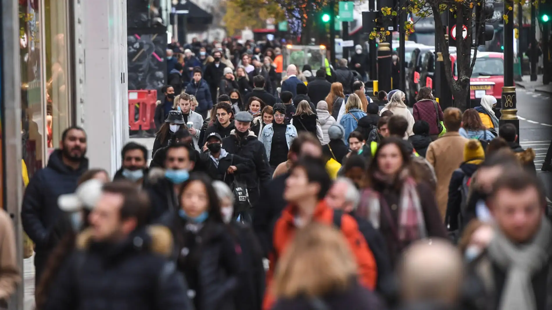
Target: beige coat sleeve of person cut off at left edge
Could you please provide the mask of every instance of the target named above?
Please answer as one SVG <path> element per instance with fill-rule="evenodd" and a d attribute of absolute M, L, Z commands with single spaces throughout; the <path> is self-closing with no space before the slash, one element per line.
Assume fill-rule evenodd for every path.
<path fill-rule="evenodd" d="M 15 249 L 12 219 L 0 209 L 0 300 L 7 300 L 21 281 Z"/>

